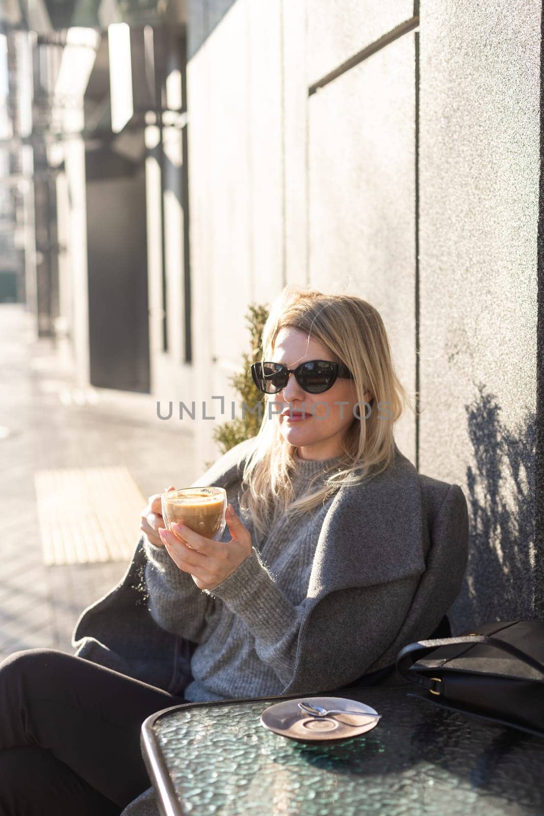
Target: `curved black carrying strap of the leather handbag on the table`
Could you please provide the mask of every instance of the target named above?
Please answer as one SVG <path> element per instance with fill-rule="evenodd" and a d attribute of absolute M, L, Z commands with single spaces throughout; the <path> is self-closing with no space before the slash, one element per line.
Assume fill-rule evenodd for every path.
<path fill-rule="evenodd" d="M 405 680 L 418 683 L 418 685 L 422 685 L 424 689 L 431 691 L 433 694 L 440 694 L 440 688 L 436 687 L 437 683 L 440 684 L 440 679 L 436 677 L 426 677 L 419 672 L 412 672 L 410 667 L 415 661 L 416 654 L 418 655 L 418 658 L 422 658 L 423 655 L 429 654 L 429 652 L 438 649 L 440 646 L 462 645 L 463 643 L 466 643 L 467 645 L 484 643 L 485 645 L 493 646 L 495 649 L 511 654 L 512 657 L 517 658 L 527 666 L 535 668 L 537 672 L 542 674 L 542 678 L 544 679 L 544 665 L 542 663 L 539 663 L 538 660 L 535 660 L 530 654 L 526 654 L 526 652 L 518 649 L 517 646 L 506 643 L 506 641 L 500 641 L 498 637 L 493 637 L 491 635 L 444 637 L 433 641 L 418 641 L 417 643 L 409 643 L 407 646 L 401 649 L 399 654 L 396 656 L 396 670 L 405 678 Z M 444 659 L 444 663 L 447 663 L 450 659 L 451 658 Z M 436 668 L 441 668 L 444 663 Z"/>

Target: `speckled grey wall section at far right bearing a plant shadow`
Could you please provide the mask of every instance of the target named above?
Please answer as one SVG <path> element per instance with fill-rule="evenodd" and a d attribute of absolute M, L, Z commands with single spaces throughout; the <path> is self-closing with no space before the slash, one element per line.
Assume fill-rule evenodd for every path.
<path fill-rule="evenodd" d="M 420 469 L 469 502 L 458 628 L 533 615 L 540 24 L 421 7 Z"/>

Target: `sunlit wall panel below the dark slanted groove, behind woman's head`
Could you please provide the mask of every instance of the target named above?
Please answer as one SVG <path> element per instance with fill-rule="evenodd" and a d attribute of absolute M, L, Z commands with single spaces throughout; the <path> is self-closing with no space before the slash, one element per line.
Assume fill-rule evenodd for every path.
<path fill-rule="evenodd" d="M 378 308 L 400 379 L 412 392 L 414 86 L 409 33 L 310 97 L 308 203 L 312 284 Z M 396 438 L 415 462 L 413 413 L 400 419 Z"/>

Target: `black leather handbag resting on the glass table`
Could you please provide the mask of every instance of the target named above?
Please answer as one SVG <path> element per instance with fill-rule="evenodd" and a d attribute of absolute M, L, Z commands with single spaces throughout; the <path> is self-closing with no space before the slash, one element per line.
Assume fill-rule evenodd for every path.
<path fill-rule="evenodd" d="M 409 643 L 396 669 L 418 685 L 411 697 L 544 738 L 544 621 L 482 623 Z"/>

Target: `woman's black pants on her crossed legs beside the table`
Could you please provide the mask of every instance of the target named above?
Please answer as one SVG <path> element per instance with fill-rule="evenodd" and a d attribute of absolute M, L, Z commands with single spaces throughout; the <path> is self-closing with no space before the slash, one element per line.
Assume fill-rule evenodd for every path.
<path fill-rule="evenodd" d="M 50 649 L 0 663 L 0 816 L 113 816 L 149 787 L 140 726 L 184 698 Z"/>

